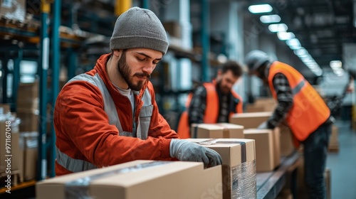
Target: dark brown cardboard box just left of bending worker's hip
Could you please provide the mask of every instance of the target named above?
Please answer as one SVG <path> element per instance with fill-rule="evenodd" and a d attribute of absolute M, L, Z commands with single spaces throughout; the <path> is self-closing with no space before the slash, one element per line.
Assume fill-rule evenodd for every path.
<path fill-rule="evenodd" d="M 283 124 L 279 126 L 279 129 L 281 131 L 281 156 L 289 156 L 295 150 L 292 132 Z"/>

